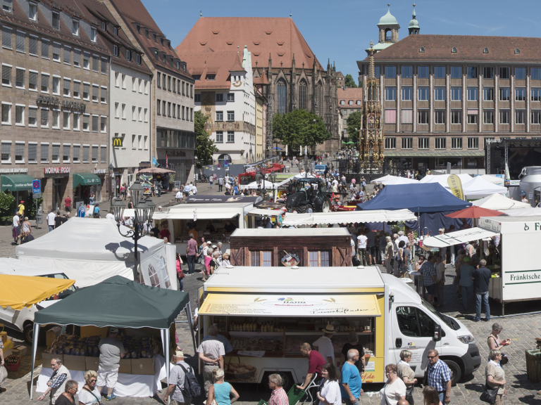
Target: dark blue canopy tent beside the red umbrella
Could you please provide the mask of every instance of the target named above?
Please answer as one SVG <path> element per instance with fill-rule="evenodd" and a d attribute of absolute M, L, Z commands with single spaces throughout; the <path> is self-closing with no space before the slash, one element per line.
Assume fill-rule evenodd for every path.
<path fill-rule="evenodd" d="M 385 186 L 378 195 L 366 203 L 357 204 L 357 210 L 403 210 L 419 214 L 420 224 L 409 222 L 411 229 L 427 228 L 437 234 L 440 228 L 461 227 L 458 219 L 445 217 L 450 212 L 464 210 L 471 203 L 456 198 L 439 183 L 397 184 Z M 468 220 L 468 221 L 471 221 Z"/>

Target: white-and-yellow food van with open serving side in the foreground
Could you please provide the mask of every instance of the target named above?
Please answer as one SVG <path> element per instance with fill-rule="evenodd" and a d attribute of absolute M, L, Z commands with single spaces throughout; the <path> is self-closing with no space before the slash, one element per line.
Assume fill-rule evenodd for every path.
<path fill-rule="evenodd" d="M 437 349 L 456 383 L 481 364 L 473 335 L 458 320 L 440 314 L 416 292 L 376 266 L 356 267 L 220 267 L 199 290 L 199 333 L 210 325 L 230 338 L 225 355 L 226 379 L 261 383 L 279 372 L 287 387 L 300 384 L 308 360 L 299 345 L 312 344 L 330 324 L 337 367 L 349 333 L 363 345 L 365 383 L 385 381 L 385 365 L 400 352 L 423 377 L 430 349 Z M 203 338 L 201 335 L 200 338 Z"/>

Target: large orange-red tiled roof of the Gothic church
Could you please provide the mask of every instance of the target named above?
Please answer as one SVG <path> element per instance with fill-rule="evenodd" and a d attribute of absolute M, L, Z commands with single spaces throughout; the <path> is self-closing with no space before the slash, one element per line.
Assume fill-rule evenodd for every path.
<path fill-rule="evenodd" d="M 316 68 L 323 70 L 291 18 L 201 17 L 176 50 L 185 55 L 203 49 L 237 51 L 244 45 L 251 51 L 252 66 L 267 67 L 270 53 L 274 68 L 291 68 L 294 56 L 297 69 L 303 63 L 312 69 L 316 60 Z"/>

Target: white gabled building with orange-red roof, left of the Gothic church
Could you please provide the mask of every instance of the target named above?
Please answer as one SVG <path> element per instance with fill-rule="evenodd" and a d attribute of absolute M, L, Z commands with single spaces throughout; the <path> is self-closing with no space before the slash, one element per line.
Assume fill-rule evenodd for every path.
<path fill-rule="evenodd" d="M 213 163 L 255 161 L 256 97 L 251 53 L 183 53 L 195 79 L 195 110 L 209 117 L 206 131 L 216 142 Z"/>

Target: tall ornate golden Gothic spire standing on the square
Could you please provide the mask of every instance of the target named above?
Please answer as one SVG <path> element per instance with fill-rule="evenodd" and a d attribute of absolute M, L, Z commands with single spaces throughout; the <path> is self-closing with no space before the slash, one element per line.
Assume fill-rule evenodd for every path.
<path fill-rule="evenodd" d="M 368 49 L 370 58 L 370 68 L 368 70 L 368 79 L 366 81 L 366 92 L 364 94 L 363 118 L 361 122 L 361 150 L 359 158 L 363 168 L 382 168 L 383 167 L 383 118 L 381 116 L 380 104 L 380 79 L 375 77 L 374 72 L 374 53 L 373 42 Z"/>

